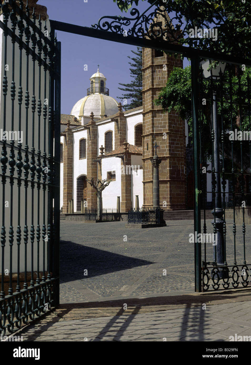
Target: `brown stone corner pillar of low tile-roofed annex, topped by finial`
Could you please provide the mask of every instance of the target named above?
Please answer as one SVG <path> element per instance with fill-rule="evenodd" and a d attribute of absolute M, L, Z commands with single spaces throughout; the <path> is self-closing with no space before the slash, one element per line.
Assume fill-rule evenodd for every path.
<path fill-rule="evenodd" d="M 121 159 L 121 212 L 128 212 L 132 207 L 131 197 L 131 155 L 128 151 L 128 142 L 124 141 L 124 161 Z M 130 166 L 130 169 L 126 166 Z"/>

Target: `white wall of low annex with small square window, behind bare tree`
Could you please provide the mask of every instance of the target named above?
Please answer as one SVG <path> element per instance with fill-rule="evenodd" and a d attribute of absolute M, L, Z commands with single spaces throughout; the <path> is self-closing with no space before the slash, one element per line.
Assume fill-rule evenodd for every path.
<path fill-rule="evenodd" d="M 112 181 L 102 193 L 103 208 L 116 208 L 117 196 L 121 201 L 121 159 L 109 157 L 102 159 L 102 179 L 107 178 L 108 171 L 116 171 L 116 181 Z"/>

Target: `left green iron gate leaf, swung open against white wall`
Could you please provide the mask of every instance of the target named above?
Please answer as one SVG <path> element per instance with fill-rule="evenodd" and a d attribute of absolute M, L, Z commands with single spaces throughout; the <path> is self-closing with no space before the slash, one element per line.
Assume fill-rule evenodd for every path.
<path fill-rule="evenodd" d="M 31 12 L 1 5 L 2 334 L 59 304 L 60 42 Z"/>

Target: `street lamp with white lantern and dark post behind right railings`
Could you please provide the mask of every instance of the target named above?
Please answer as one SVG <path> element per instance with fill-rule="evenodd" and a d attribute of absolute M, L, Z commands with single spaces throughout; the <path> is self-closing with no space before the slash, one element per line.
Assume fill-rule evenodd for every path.
<path fill-rule="evenodd" d="M 203 69 L 203 76 L 205 78 L 213 78 L 214 80 L 220 80 L 223 76 L 226 64 L 222 64 L 216 66 L 214 69 L 210 69 L 207 71 L 209 67 L 209 62 L 211 60 L 202 61 L 201 66 Z M 221 203 L 221 175 L 220 175 L 220 149 L 219 149 L 219 130 L 218 130 L 218 118 L 217 118 L 217 95 L 216 92 L 213 91 L 213 131 L 214 131 L 214 166 L 212 168 L 212 172 L 215 173 L 215 206 L 213 211 L 211 212 L 215 219 L 211 222 L 214 225 L 214 233 L 217 234 L 216 242 L 217 245 L 214 246 L 213 251 L 213 261 L 217 262 L 218 266 L 223 266 L 226 260 L 225 246 L 224 246 L 224 234 L 223 234 L 223 210 Z M 215 242 L 215 243 L 216 243 Z M 218 268 L 218 276 L 220 278 L 226 278 L 228 276 L 227 270 L 224 268 Z M 214 274 L 213 274 L 214 275 Z"/>

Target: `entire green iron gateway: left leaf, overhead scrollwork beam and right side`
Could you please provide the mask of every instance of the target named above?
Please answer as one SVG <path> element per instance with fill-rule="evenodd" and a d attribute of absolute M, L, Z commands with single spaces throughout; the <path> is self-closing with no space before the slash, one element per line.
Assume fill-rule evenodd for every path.
<path fill-rule="evenodd" d="M 206 0 L 198 3 L 202 2 L 207 3 Z M 197 6 L 196 4 L 197 2 L 191 1 L 191 6 Z M 3 44 L 0 125 L 3 131 L 11 129 L 8 138 L 0 138 L 2 150 L 0 193 L 3 197 L 1 210 L 1 332 L 5 333 L 6 330 L 12 332 L 15 328 L 19 328 L 22 322 L 27 323 L 29 318 L 32 320 L 35 316 L 39 316 L 59 304 L 60 42 L 57 42 L 55 38 L 55 30 L 152 48 L 167 53 L 179 53 L 191 59 L 194 233 L 202 233 L 201 207 L 205 210 L 205 197 L 211 191 L 214 217 L 210 227 L 213 227 L 213 233 L 219 232 L 221 239 L 218 241 L 220 245 L 214 246 L 211 254 L 209 248 L 204 247 L 203 261 L 201 243 L 194 244 L 195 291 L 202 291 L 202 287 L 204 290 L 208 289 L 209 280 L 213 283 L 214 289 L 218 289 L 220 283 L 223 283 L 223 288 L 229 288 L 230 285 L 235 288 L 239 285 L 240 278 L 243 287 L 246 287 L 250 275 L 248 273 L 249 265 L 246 264 L 245 258 L 246 226 L 244 218 L 247 211 L 242 210 L 243 263 L 237 265 L 236 223 L 233 218 L 234 260 L 232 265 L 228 266 L 226 263 L 226 247 L 228 247 L 226 232 L 228 229 L 226 227 L 225 180 L 226 174 L 230 174 L 231 178 L 228 175 L 228 181 L 232 181 L 233 217 L 235 217 L 236 177 L 238 176 L 241 187 L 239 194 L 241 199 L 245 200 L 247 194 L 250 194 L 250 188 L 247 192 L 247 188 L 245 188 L 247 184 L 243 183 L 245 179 L 247 181 L 247 177 L 244 175 L 249 176 L 250 184 L 250 171 L 247 171 L 247 166 L 246 170 L 243 168 L 243 151 L 239 157 L 240 171 L 237 171 L 236 166 L 228 171 L 226 166 L 223 167 L 220 162 L 224 161 L 224 154 L 220 154 L 219 149 L 216 150 L 214 141 L 222 143 L 222 151 L 224 151 L 225 137 L 223 135 L 223 142 L 222 139 L 221 141 L 218 139 L 222 137 L 217 135 L 218 127 L 216 128 L 214 124 L 211 124 L 210 130 L 211 150 L 210 146 L 207 149 L 207 157 L 210 151 L 212 156 L 211 190 L 205 183 L 205 176 L 209 171 L 204 175 L 202 171 L 208 162 L 205 160 L 206 154 L 203 150 L 204 141 L 208 142 L 208 134 L 206 134 L 206 129 L 203 129 L 201 101 L 205 99 L 211 104 L 211 115 L 216 113 L 213 111 L 213 105 L 219 104 L 218 106 L 220 106 L 222 103 L 229 103 L 231 108 L 236 101 L 231 101 L 231 98 L 226 100 L 227 98 L 222 96 L 223 94 L 215 97 L 212 87 L 211 94 L 203 95 L 200 62 L 203 59 L 213 59 L 229 64 L 244 64 L 247 67 L 250 66 L 248 61 L 245 58 L 213 51 L 210 49 L 210 41 L 209 47 L 205 47 L 204 50 L 196 47 L 198 39 L 190 38 L 188 47 L 183 45 L 184 34 L 188 30 L 189 24 L 194 23 L 194 19 L 184 19 L 179 11 L 176 11 L 176 14 L 170 19 L 167 12 L 172 12 L 172 1 L 169 0 L 162 3 L 160 0 L 154 1 L 143 14 L 140 14 L 138 9 L 131 9 L 131 18 L 104 16 L 91 28 L 56 20 L 50 20 L 50 24 L 46 24 L 42 19 L 36 19 L 34 13 L 33 20 L 31 20 L 29 8 L 24 9 L 22 0 L 19 1 L 19 6 L 14 0 L 9 0 L 8 3 L 1 5 L 1 12 L 0 28 Z M 162 28 L 161 23 L 157 21 L 159 16 L 164 19 L 165 28 Z M 203 23 L 203 19 L 201 21 L 202 24 L 197 24 L 198 26 L 209 26 L 209 24 Z M 199 20 L 196 19 L 196 22 L 199 23 Z M 176 26 L 176 29 L 173 25 Z M 24 53 L 26 54 L 25 62 L 23 61 Z M 210 82 L 212 86 L 214 81 L 211 79 Z M 217 82 L 219 83 L 219 81 Z M 224 89 L 222 85 L 225 82 L 233 85 L 233 80 L 230 81 L 230 78 L 229 80 L 222 79 L 217 90 Z M 238 82 L 240 90 L 243 88 L 243 91 L 249 95 L 249 81 L 247 81 L 247 86 L 243 86 L 242 81 Z M 229 90 L 231 91 L 231 86 Z M 245 97 L 244 94 L 242 92 L 242 98 Z M 243 102 L 240 96 L 237 101 L 240 110 L 245 109 L 245 123 L 247 118 L 250 122 L 249 96 L 248 100 L 246 99 Z M 242 128 L 243 118 L 243 114 L 240 112 L 239 128 Z M 24 141 L 15 138 L 18 131 L 23 131 Z M 243 150 L 244 147 L 243 145 L 241 147 L 241 143 L 240 150 Z M 217 190 L 220 186 L 219 181 L 222 185 L 221 191 Z M 220 206 L 219 196 L 223 198 L 223 207 Z M 209 224 L 207 223 L 206 226 L 206 220 L 203 223 L 203 233 L 206 234 Z M 210 255 L 213 256 L 211 260 Z M 219 258 L 220 262 L 217 261 Z M 243 275 L 238 274 L 240 270 Z"/>

